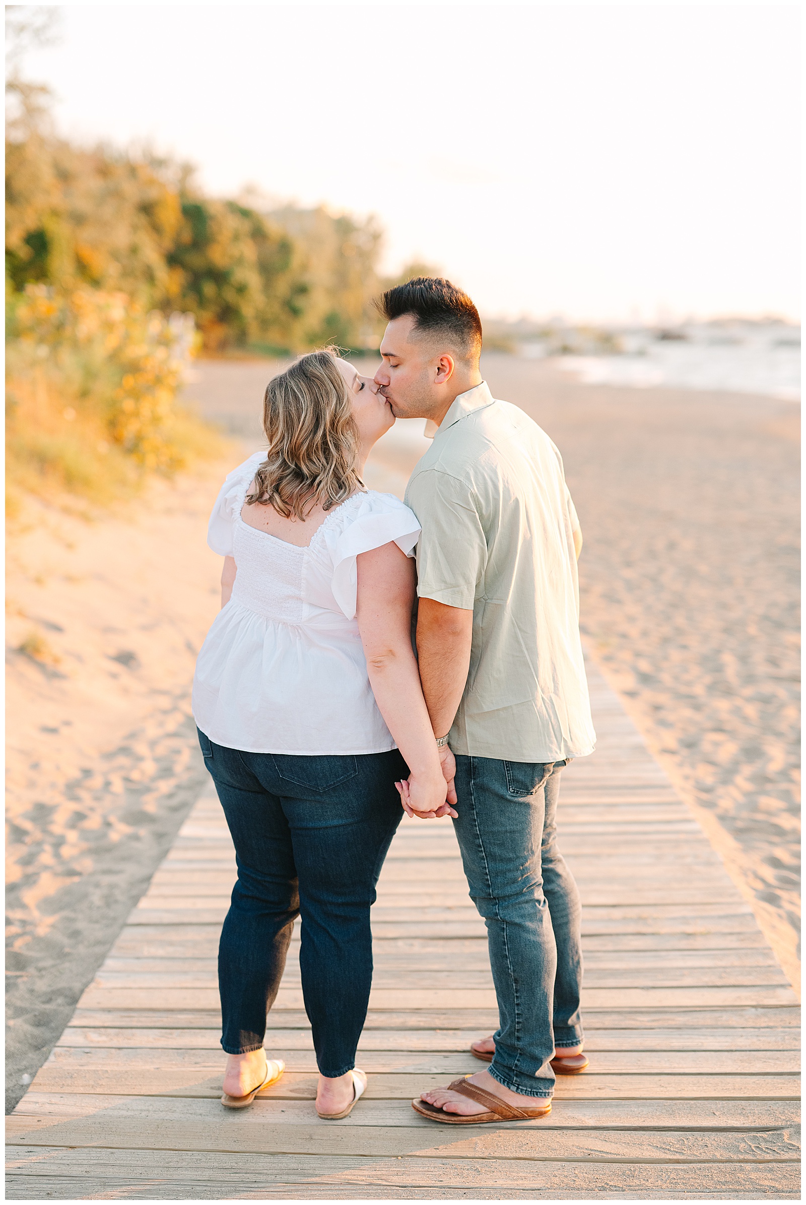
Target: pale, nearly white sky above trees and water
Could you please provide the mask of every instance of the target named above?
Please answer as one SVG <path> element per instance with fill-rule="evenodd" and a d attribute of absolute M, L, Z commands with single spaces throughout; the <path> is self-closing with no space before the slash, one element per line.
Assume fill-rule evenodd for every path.
<path fill-rule="evenodd" d="M 375 213 L 482 313 L 796 317 L 795 5 L 59 5 L 60 130 Z"/>

